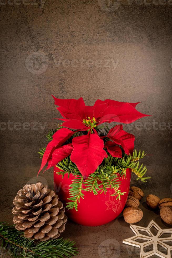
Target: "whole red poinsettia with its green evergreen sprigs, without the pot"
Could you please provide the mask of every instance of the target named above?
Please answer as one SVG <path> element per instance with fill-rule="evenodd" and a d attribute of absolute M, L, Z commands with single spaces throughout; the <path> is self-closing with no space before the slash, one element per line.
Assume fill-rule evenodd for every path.
<path fill-rule="evenodd" d="M 57 173 L 72 173 L 75 176 L 70 185 L 72 197 L 69 208 L 77 209 L 80 197 L 84 198 L 83 191 L 98 194 L 99 190 L 106 192 L 110 187 L 114 189 L 114 195 L 120 198 L 124 193 L 119 189 L 119 178 L 125 176 L 127 168 L 131 168 L 142 181 L 148 178 L 143 177 L 146 167 L 143 164 L 139 167 L 139 162 L 135 162 L 145 154 L 133 152 L 134 135 L 124 131 L 121 124 L 111 129 L 107 126 L 111 122 L 128 124 L 148 116 L 136 110 L 140 102 L 108 99 L 97 100 L 94 106 L 86 106 L 83 98 L 53 98 L 63 117 L 56 119 L 61 120 L 62 124 L 49 131 L 47 138 L 50 142 L 46 148 L 40 149 L 42 164 L 39 172 L 48 163 L 45 170 L 57 166 L 63 170 Z"/>

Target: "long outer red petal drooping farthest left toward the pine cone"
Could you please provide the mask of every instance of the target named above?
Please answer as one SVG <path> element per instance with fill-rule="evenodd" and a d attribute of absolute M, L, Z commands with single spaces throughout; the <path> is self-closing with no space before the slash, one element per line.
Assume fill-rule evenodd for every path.
<path fill-rule="evenodd" d="M 52 152 L 54 151 L 54 149 L 61 146 L 73 134 L 74 134 L 74 132 L 70 131 L 67 128 L 61 128 L 57 132 L 54 133 L 53 140 L 48 143 L 47 148 L 46 148 L 46 150 L 44 152 L 44 155 L 42 157 L 42 163 L 41 163 L 41 168 L 40 168 L 39 172 L 46 165 L 46 163 L 47 163 L 48 159 L 51 157 Z M 38 172 L 38 174 L 39 174 L 39 172 Z"/>

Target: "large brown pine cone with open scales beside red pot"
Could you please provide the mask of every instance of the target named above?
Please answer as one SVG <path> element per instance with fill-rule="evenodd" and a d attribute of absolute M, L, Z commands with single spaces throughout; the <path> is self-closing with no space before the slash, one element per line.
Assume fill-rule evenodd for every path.
<path fill-rule="evenodd" d="M 41 241 L 57 238 L 64 231 L 67 216 L 54 191 L 41 182 L 25 185 L 13 200 L 12 213 L 17 230 L 24 236 Z"/>

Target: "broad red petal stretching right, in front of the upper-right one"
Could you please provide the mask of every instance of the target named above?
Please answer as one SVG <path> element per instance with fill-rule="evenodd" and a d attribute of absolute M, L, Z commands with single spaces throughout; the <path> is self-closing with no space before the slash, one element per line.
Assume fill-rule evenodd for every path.
<path fill-rule="evenodd" d="M 120 106 L 107 107 L 103 111 L 102 118 L 100 119 L 98 124 L 104 123 L 104 122 L 109 122 L 109 123 L 120 122 L 120 123 L 128 124 L 144 116 L 149 116 L 149 115 L 140 113 L 129 103 L 123 103 Z"/>

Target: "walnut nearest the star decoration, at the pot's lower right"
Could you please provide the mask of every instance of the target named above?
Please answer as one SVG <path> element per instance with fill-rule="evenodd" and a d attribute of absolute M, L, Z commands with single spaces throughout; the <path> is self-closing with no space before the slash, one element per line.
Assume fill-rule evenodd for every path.
<path fill-rule="evenodd" d="M 140 221 L 143 217 L 143 211 L 139 208 L 128 207 L 123 210 L 123 216 L 125 222 L 129 224 L 136 223 Z"/>

